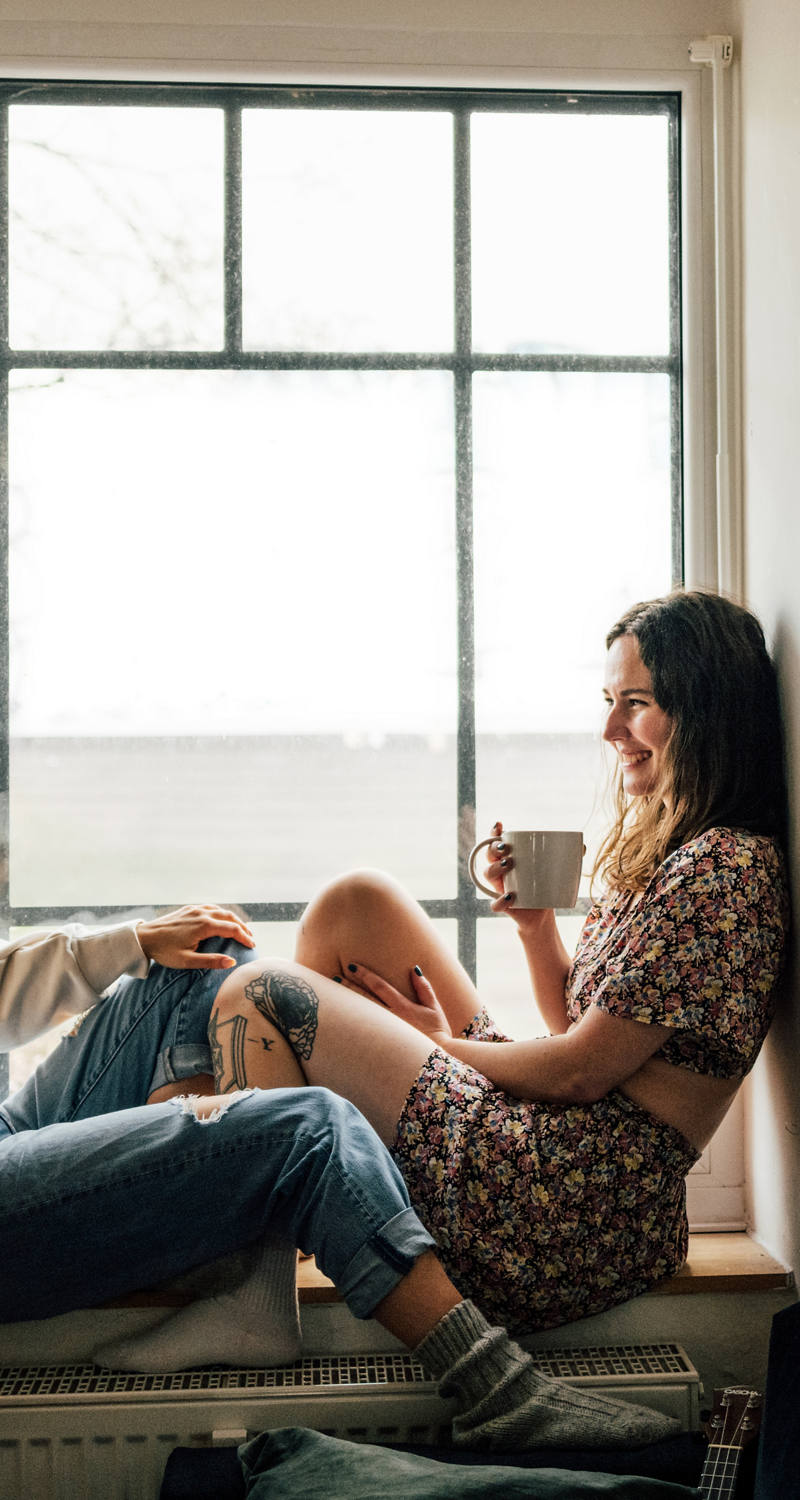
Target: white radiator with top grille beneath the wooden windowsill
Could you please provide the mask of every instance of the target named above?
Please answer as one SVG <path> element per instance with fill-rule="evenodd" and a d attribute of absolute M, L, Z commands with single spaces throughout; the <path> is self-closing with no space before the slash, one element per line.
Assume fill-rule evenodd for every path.
<path fill-rule="evenodd" d="M 680 1344 L 536 1350 L 543 1374 L 695 1428 L 699 1377 Z M 311 1426 L 372 1443 L 437 1443 L 452 1407 L 413 1354 L 339 1354 L 278 1370 L 0 1371 L 0 1500 L 158 1500 L 173 1448 Z"/>

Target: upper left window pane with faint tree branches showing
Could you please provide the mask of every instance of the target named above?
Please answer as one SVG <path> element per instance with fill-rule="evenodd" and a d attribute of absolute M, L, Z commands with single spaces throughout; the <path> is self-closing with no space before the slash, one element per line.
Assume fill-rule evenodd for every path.
<path fill-rule="evenodd" d="M 11 344 L 222 342 L 222 111 L 11 110 Z"/>

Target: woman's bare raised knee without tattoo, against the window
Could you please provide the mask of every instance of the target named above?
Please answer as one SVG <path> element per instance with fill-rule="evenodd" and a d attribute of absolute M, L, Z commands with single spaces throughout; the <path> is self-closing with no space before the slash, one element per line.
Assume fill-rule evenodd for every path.
<path fill-rule="evenodd" d="M 294 957 L 317 974 L 345 981 L 348 963 L 363 963 L 411 1000 L 410 972 L 419 964 L 455 1035 L 480 1008 L 471 980 L 431 918 L 380 870 L 354 870 L 320 891 L 300 920 Z"/>

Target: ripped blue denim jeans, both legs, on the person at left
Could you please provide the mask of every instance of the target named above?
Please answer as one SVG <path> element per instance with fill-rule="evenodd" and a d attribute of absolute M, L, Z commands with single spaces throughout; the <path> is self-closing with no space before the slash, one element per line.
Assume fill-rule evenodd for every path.
<path fill-rule="evenodd" d="M 159 1070 L 198 1071 L 180 1048 L 204 1046 L 227 974 L 155 966 L 120 981 L 6 1101 L 0 1322 L 93 1306 L 267 1228 L 311 1251 L 369 1317 L 434 1248 L 389 1152 L 329 1089 L 248 1090 L 210 1120 L 180 1098 L 143 1106 Z"/>

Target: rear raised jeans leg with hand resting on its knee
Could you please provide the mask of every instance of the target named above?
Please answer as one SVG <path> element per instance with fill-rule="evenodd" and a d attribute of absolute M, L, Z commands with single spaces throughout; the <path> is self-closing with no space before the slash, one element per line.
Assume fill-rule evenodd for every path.
<path fill-rule="evenodd" d="M 209 938 L 200 951 L 228 952 L 237 964 L 257 957 L 252 948 L 219 938 Z M 146 980 L 123 975 L 5 1101 L 0 1125 L 18 1132 L 135 1108 L 165 1083 L 213 1074 L 209 1017 L 231 974 L 155 963 Z"/>

